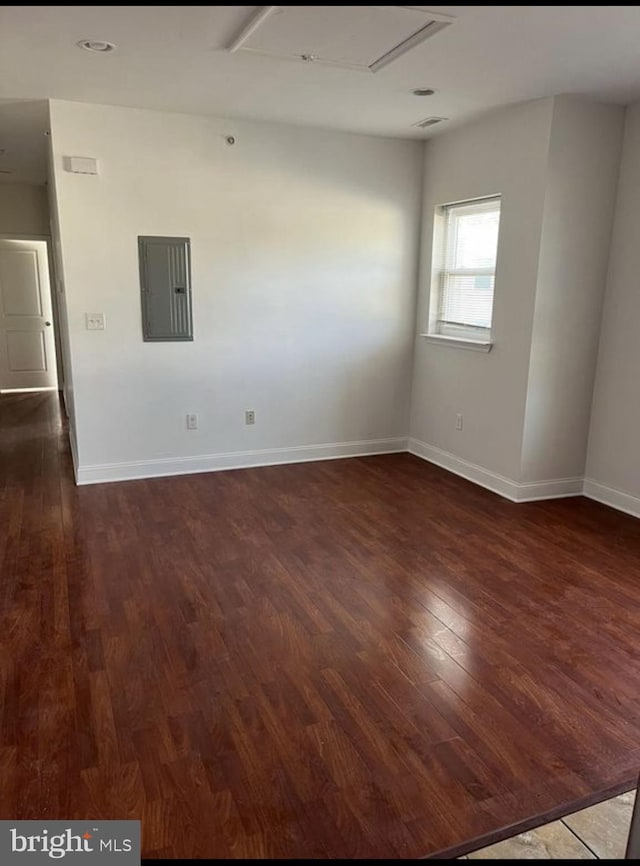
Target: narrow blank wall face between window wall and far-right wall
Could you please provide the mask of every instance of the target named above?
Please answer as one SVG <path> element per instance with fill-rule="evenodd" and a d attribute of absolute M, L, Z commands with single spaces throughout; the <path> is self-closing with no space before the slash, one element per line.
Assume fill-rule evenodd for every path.
<path fill-rule="evenodd" d="M 624 109 L 554 100 L 520 479 L 584 474 Z"/>

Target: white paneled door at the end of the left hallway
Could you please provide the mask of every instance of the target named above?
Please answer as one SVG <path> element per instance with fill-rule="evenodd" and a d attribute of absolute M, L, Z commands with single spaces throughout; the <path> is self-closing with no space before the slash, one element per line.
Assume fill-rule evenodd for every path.
<path fill-rule="evenodd" d="M 0 389 L 57 386 L 47 244 L 0 240 Z"/>

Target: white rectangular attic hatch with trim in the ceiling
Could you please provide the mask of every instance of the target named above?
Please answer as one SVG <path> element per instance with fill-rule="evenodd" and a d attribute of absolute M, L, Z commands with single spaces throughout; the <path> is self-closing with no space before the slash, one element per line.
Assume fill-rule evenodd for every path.
<path fill-rule="evenodd" d="M 378 72 L 453 20 L 415 6 L 260 6 L 227 50 Z"/>

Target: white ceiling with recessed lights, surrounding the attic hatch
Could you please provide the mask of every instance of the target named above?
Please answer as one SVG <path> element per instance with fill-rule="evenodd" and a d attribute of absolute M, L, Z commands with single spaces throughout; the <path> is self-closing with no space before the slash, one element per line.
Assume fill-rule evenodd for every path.
<path fill-rule="evenodd" d="M 286 16 L 288 7 L 280 8 Z M 302 22 L 292 48 L 303 53 L 319 12 L 349 7 L 289 8 Z M 372 16 L 382 8 L 389 9 L 371 7 Z M 19 171 L 0 181 L 37 180 L 33 165 L 23 165 L 15 145 L 4 143 L 12 135 L 7 100 L 71 99 L 426 138 L 541 96 L 576 93 L 619 103 L 640 97 L 640 6 L 411 8 L 455 20 L 373 74 L 229 53 L 226 46 L 256 6 L 1 6 L 0 149 L 7 152 L 0 167 L 13 161 Z M 351 37 L 354 54 L 362 32 Z M 344 17 L 339 34 L 344 42 Z M 118 50 L 81 51 L 75 43 L 85 38 L 115 42 Z M 420 86 L 437 92 L 416 97 L 411 90 Z M 412 126 L 429 115 L 450 120 L 435 131 Z"/>

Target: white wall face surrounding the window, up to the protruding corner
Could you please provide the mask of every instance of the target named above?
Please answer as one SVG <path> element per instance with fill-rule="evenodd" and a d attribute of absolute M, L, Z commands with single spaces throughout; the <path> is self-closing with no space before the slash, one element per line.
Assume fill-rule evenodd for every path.
<path fill-rule="evenodd" d="M 412 447 L 436 459 L 443 451 L 510 479 L 520 475 L 552 113 L 552 99 L 513 106 L 438 136 L 426 148 Z M 421 336 L 434 209 L 492 193 L 502 195 L 494 349 L 482 354 L 434 345 Z M 455 429 L 457 413 L 462 430 Z"/>

